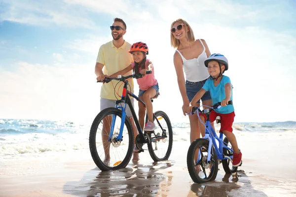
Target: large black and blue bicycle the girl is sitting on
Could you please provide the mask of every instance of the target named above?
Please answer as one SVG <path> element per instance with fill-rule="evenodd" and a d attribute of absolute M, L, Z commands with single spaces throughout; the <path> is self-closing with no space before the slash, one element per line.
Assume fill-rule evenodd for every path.
<path fill-rule="evenodd" d="M 151 71 L 147 71 L 150 74 Z M 128 90 L 129 78 L 141 78 L 141 73 L 118 78 L 105 78 L 105 83 L 117 80 L 124 83 L 122 96 L 114 107 L 102 110 L 94 119 L 89 133 L 89 148 L 95 164 L 101 170 L 116 170 L 129 163 L 134 145 L 141 151 L 148 145 L 149 154 L 154 162 L 168 160 L 173 146 L 173 130 L 169 117 L 163 111 L 153 113 L 153 121 L 157 127 L 154 131 L 142 131 L 139 120 L 129 98 L 133 97 L 145 103 Z M 115 86 L 116 87 L 116 86 Z M 115 91 L 115 88 L 114 88 Z M 152 101 L 152 99 L 151 99 Z M 126 118 L 126 107 L 130 107 L 138 135 L 134 140 L 134 132 L 129 118 Z M 146 123 L 147 123 L 146 114 Z M 134 142 L 135 141 L 135 142 Z"/>

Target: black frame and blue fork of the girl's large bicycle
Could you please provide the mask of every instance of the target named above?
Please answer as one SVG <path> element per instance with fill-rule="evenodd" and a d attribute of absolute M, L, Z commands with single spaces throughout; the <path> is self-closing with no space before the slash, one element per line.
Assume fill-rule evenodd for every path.
<path fill-rule="evenodd" d="M 121 111 L 122 111 L 120 131 L 119 131 L 118 136 L 116 137 L 116 141 L 121 141 L 122 140 L 122 132 L 123 132 L 124 122 L 125 122 L 125 118 L 126 118 L 126 111 L 125 110 L 126 110 L 126 104 L 127 104 L 129 106 L 130 110 L 131 110 L 131 113 L 132 113 L 132 116 L 134 118 L 134 121 L 135 121 L 137 130 L 139 131 L 139 134 L 140 134 L 140 142 L 141 143 L 147 143 L 147 141 L 145 140 L 144 132 L 142 131 L 141 126 L 140 126 L 140 123 L 139 123 L 139 120 L 137 118 L 135 109 L 134 109 L 134 107 L 132 105 L 131 99 L 128 96 L 131 96 L 131 97 L 135 98 L 136 100 L 140 101 L 144 106 L 146 106 L 146 105 L 136 95 L 134 95 L 132 92 L 130 92 L 130 91 L 127 90 L 127 85 L 128 85 L 128 81 L 124 81 L 124 86 L 123 86 L 123 90 L 122 90 L 121 99 L 120 100 L 116 100 L 116 103 L 115 103 L 115 108 L 121 109 Z M 124 103 L 124 105 L 123 106 L 119 106 L 119 103 Z M 163 130 L 163 128 L 161 127 L 161 125 L 160 125 L 157 117 L 155 116 L 155 114 L 153 114 L 153 116 L 157 120 L 157 123 L 158 123 L 159 127 L 161 128 L 161 130 L 163 132 L 165 132 Z M 108 141 L 111 141 L 111 137 L 113 135 L 115 119 L 116 119 L 116 116 L 115 115 L 112 115 L 111 131 L 110 131 L 110 135 L 109 135 Z M 160 139 L 163 139 L 165 137 L 166 137 L 166 133 L 164 133 L 164 136 L 162 136 L 162 137 L 151 139 L 150 142 L 153 142 L 153 141 L 156 141 L 156 140 L 160 140 Z"/>

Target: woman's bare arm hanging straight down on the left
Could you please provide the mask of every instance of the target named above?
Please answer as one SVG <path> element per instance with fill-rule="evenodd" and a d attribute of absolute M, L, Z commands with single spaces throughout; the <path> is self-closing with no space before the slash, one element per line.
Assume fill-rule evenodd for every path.
<path fill-rule="evenodd" d="M 185 77 L 183 73 L 183 63 L 182 63 L 182 58 L 180 54 L 176 51 L 174 54 L 174 65 L 176 69 L 176 74 L 177 74 L 177 80 L 178 80 L 178 85 L 179 85 L 179 90 L 183 99 L 183 114 L 186 115 L 186 107 L 189 105 L 189 99 L 186 94 L 186 87 L 185 87 Z"/>

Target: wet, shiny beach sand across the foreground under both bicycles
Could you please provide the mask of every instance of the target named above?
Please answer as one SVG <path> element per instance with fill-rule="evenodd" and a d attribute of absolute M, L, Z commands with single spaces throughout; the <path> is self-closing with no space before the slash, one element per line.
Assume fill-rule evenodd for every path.
<path fill-rule="evenodd" d="M 88 149 L 72 154 L 0 162 L 0 197 L 292 197 L 296 196 L 296 136 L 236 134 L 243 153 L 237 173 L 195 184 L 186 167 L 189 141 L 174 141 L 168 161 L 153 163 L 148 151 L 138 163 L 101 171 Z"/>

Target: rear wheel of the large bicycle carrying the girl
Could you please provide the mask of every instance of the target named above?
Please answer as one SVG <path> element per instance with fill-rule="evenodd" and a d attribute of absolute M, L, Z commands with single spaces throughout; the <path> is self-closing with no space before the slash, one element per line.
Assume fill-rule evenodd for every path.
<path fill-rule="evenodd" d="M 173 129 L 171 121 L 166 113 L 163 111 L 156 111 L 154 114 L 159 121 L 159 125 L 156 118 L 153 117 L 157 129 L 146 133 L 148 133 L 150 139 L 157 139 L 158 137 L 165 138 L 148 143 L 148 150 L 154 162 L 165 161 L 169 159 L 172 152 Z"/>

